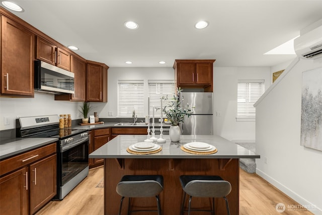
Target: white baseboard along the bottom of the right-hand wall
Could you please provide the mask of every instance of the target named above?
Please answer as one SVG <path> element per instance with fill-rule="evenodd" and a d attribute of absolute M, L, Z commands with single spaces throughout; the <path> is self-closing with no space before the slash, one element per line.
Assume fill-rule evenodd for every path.
<path fill-rule="evenodd" d="M 264 178 L 266 181 L 268 181 L 270 184 L 275 186 L 277 189 L 282 191 L 285 195 L 289 196 L 290 198 L 294 199 L 296 202 L 298 202 L 300 205 L 303 205 L 304 207 L 307 206 L 307 210 L 311 211 L 315 215 L 322 215 L 322 209 L 316 207 L 316 205 L 312 204 L 311 202 L 307 201 L 306 199 L 299 196 L 297 193 L 293 192 L 289 188 L 285 187 L 280 182 L 276 181 L 274 178 L 270 177 L 266 173 L 262 172 L 258 168 L 256 168 L 256 174 Z M 283 202 L 281 202 L 283 203 Z M 314 207 L 314 208 L 309 208 Z M 287 210 L 287 205 L 286 205 Z"/>

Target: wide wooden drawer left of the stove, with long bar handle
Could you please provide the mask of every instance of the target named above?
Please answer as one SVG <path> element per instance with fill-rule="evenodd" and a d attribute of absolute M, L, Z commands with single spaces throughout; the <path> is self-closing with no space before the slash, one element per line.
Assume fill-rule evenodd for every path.
<path fill-rule="evenodd" d="M 13 170 L 28 165 L 34 161 L 42 159 L 56 152 L 56 142 L 54 142 L 53 144 L 47 145 L 45 147 L 41 147 L 30 152 L 26 152 L 15 157 L 3 160 L 0 162 L 0 175 L 9 173 Z"/>

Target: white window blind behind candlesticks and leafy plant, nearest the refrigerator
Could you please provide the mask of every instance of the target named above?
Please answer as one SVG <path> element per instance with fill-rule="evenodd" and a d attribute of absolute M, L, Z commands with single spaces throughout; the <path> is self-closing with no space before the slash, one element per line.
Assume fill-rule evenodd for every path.
<path fill-rule="evenodd" d="M 175 94 L 175 83 L 174 81 L 160 81 L 160 80 L 149 80 L 148 81 L 148 97 L 150 101 L 150 117 L 152 117 L 152 111 L 154 106 L 154 118 L 160 118 L 161 116 L 161 99 L 165 97 L 170 99 L 173 98 Z M 170 100 L 171 101 L 171 100 Z M 166 105 L 169 106 L 171 103 L 170 101 L 163 100 L 162 106 L 165 107 Z M 158 108 L 158 109 L 156 109 Z M 169 109 L 169 108 L 166 108 Z M 165 113 L 163 113 L 165 117 Z"/>

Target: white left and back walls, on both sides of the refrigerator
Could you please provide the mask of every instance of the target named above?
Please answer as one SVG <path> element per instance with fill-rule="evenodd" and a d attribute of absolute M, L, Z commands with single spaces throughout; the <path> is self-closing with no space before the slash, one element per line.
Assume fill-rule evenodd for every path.
<path fill-rule="evenodd" d="M 255 122 L 236 122 L 236 98 L 238 79 L 265 79 L 266 88 L 270 85 L 269 67 L 214 67 L 214 133 L 233 141 L 254 141 Z M 101 118 L 117 117 L 117 81 L 174 80 L 174 69 L 111 67 L 108 70 L 108 102 L 91 102 Z M 147 88 L 145 89 L 147 93 Z M 147 95 L 145 96 L 147 113 Z M 55 101 L 53 95 L 35 93 L 35 98 L 0 97 L 0 130 L 15 128 L 17 116 L 35 116 L 45 114 L 71 114 L 72 119 L 79 119 L 80 102 Z M 112 116 L 108 113 L 112 112 Z M 10 118 L 10 125 L 4 125 L 4 117 Z"/>

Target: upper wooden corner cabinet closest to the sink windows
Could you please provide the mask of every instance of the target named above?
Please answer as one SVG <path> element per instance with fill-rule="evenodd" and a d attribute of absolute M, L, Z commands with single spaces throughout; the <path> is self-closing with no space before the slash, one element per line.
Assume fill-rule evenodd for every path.
<path fill-rule="evenodd" d="M 86 101 L 107 102 L 107 70 L 104 63 L 87 61 Z"/>

